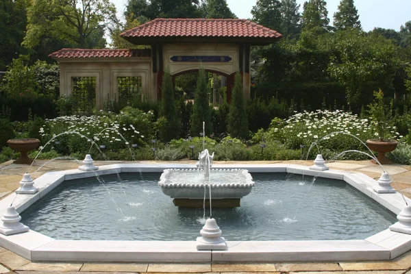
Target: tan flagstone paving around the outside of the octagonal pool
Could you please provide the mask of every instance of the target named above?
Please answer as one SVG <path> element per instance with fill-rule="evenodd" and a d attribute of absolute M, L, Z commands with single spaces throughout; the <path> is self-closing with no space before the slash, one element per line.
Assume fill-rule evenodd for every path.
<path fill-rule="evenodd" d="M 97 166 L 119 162 L 96 162 Z M 131 163 L 131 162 L 122 162 Z M 136 163 L 136 162 L 133 162 Z M 160 164 L 170 162 L 144 162 Z M 193 161 L 178 162 L 195 164 Z M 301 164 L 310 166 L 312 161 L 264 161 L 264 162 L 214 162 L 215 164 Z M 44 166 L 43 166 L 44 165 Z M 40 168 L 40 166 L 42 166 Z M 77 169 L 79 162 L 56 160 L 39 161 L 29 168 L 27 165 L 12 164 L 12 161 L 0 164 L 0 199 L 16 190 L 23 174 L 29 171 L 33 178 L 49 171 Z M 369 161 L 338 161 L 327 164 L 331 169 L 357 171 L 378 179 L 382 173 L 379 166 Z M 40 169 L 39 169 L 40 168 Z M 393 175 L 393 187 L 411 198 L 411 166 L 386 165 L 384 168 Z M 38 170 L 39 169 L 39 170 Z M 38 170 L 38 171 L 37 171 Z M 325 263 L 281 263 L 272 264 L 121 264 L 121 263 L 37 263 L 0 247 L 0 273 L 361 273 L 361 274 L 411 274 L 411 251 L 390 262 L 325 262 Z"/>

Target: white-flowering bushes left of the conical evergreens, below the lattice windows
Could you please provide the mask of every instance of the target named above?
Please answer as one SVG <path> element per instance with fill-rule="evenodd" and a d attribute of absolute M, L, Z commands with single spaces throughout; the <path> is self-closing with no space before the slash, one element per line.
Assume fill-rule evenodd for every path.
<path fill-rule="evenodd" d="M 92 116 L 60 116 L 46 119 L 39 133 L 42 145 L 64 133 L 51 142 L 50 149 L 54 147 L 58 153 L 70 155 L 88 153 L 92 142 L 97 146 L 104 145 L 104 149 L 108 151 L 128 149 L 132 144 L 145 145 L 153 138 L 155 127 L 152 112 L 127 107 L 120 114 L 100 112 Z M 92 152 L 97 153 L 96 146 L 92 147 Z"/>

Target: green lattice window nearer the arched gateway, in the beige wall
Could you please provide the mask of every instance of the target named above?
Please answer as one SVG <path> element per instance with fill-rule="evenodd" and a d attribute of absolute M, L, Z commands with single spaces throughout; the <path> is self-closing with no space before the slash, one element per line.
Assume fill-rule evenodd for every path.
<path fill-rule="evenodd" d="M 119 84 L 119 101 L 132 103 L 141 99 L 141 77 L 117 77 Z"/>

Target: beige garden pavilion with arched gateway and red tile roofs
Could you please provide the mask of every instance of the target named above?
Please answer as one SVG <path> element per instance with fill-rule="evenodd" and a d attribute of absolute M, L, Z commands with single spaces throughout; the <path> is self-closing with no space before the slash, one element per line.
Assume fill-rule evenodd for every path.
<path fill-rule="evenodd" d="M 119 98 L 121 85 L 138 82 L 142 97 L 161 98 L 164 71 L 176 77 L 206 71 L 227 77 L 231 99 L 234 75 L 242 75 L 243 96 L 250 97 L 250 47 L 269 45 L 282 34 L 245 19 L 156 18 L 121 34 L 150 49 L 61 49 L 49 57 L 60 63 L 60 94 L 75 92 L 79 79 L 95 90 L 96 108 Z M 127 79 L 127 81 L 125 81 Z M 131 80 L 130 80 L 131 79 Z"/>

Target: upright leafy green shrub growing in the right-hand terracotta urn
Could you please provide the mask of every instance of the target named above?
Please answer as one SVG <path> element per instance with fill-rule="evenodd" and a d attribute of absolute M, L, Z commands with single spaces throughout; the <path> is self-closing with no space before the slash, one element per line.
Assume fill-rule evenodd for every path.
<path fill-rule="evenodd" d="M 368 105 L 369 114 L 373 121 L 373 129 L 380 141 L 389 138 L 390 130 L 393 128 L 393 108 L 384 103 L 382 90 L 374 92 L 375 100 Z"/>

